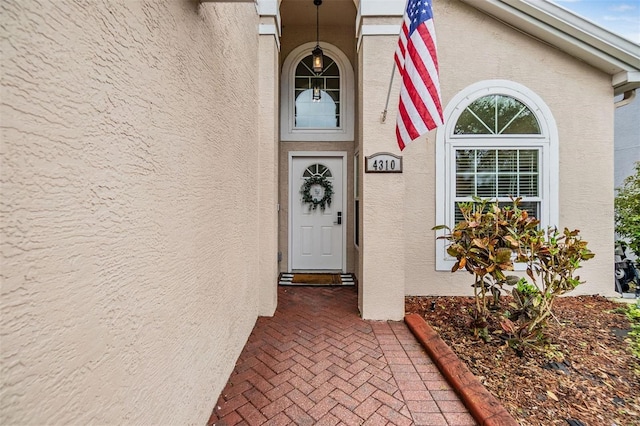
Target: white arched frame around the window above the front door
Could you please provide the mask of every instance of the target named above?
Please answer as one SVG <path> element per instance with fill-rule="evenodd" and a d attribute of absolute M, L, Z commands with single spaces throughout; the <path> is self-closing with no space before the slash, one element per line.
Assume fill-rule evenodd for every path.
<path fill-rule="evenodd" d="M 326 129 L 295 127 L 295 72 L 302 59 L 309 56 L 315 42 L 295 48 L 282 64 L 280 81 L 280 140 L 282 141 L 352 141 L 354 135 L 354 76 L 353 67 L 340 49 L 320 43 L 324 55 L 333 59 L 340 71 L 340 126 Z"/>

